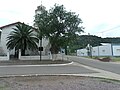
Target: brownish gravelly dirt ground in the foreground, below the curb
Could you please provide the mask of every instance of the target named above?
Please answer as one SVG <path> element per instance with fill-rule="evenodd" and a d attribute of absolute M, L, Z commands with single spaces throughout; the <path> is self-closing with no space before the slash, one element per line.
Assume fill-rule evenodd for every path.
<path fill-rule="evenodd" d="M 120 81 L 76 76 L 0 78 L 0 90 L 120 90 Z"/>

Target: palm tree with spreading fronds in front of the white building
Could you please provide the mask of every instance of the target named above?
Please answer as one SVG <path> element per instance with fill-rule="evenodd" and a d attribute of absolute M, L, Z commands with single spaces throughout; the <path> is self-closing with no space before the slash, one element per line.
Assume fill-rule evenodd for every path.
<path fill-rule="evenodd" d="M 37 43 L 38 39 L 33 33 L 31 26 L 28 26 L 24 23 L 19 23 L 16 25 L 16 28 L 13 28 L 9 36 L 7 37 L 7 48 L 12 50 L 15 48 L 15 51 L 21 49 L 22 55 L 25 55 L 25 50 L 35 50 L 38 49 Z"/>

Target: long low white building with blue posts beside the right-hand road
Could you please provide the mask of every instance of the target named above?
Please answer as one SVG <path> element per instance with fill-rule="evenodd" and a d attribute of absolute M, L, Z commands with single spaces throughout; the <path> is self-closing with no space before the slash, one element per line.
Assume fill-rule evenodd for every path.
<path fill-rule="evenodd" d="M 77 56 L 88 56 L 86 48 L 78 49 Z M 120 56 L 120 44 L 102 43 L 92 47 L 92 56 Z"/>

